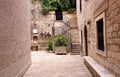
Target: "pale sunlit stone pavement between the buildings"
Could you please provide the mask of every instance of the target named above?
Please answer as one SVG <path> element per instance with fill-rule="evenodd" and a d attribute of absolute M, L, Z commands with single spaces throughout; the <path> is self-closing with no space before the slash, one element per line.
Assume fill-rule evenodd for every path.
<path fill-rule="evenodd" d="M 92 77 L 80 55 L 32 52 L 32 65 L 23 77 Z"/>

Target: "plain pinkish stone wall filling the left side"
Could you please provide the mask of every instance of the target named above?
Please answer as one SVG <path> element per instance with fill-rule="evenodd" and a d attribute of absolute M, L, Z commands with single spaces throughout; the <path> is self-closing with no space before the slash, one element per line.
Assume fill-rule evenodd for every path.
<path fill-rule="evenodd" d="M 0 77 L 21 77 L 31 64 L 29 0 L 0 0 Z"/>

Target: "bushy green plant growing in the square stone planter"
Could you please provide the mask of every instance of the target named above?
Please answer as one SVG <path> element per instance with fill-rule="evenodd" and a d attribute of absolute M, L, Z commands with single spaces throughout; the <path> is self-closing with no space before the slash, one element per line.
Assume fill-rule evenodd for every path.
<path fill-rule="evenodd" d="M 55 46 L 66 46 L 67 45 L 67 38 L 60 34 L 57 35 L 55 38 Z"/>

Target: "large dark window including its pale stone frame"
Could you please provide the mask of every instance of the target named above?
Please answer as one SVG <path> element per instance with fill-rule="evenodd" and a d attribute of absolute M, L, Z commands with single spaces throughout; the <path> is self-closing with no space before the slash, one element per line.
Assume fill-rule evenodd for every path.
<path fill-rule="evenodd" d="M 106 29 L 105 29 L 105 12 L 95 18 L 96 27 L 96 53 L 106 57 Z"/>

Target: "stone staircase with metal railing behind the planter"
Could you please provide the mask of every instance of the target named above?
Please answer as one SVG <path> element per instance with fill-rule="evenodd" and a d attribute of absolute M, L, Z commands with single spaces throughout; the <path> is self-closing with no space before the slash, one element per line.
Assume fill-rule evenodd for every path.
<path fill-rule="evenodd" d="M 53 35 L 64 34 L 69 40 L 67 48 L 70 49 L 68 51 L 71 52 L 71 55 L 80 55 L 79 31 L 75 20 L 71 20 L 67 16 L 64 16 L 62 21 L 54 21 L 52 32 Z"/>

